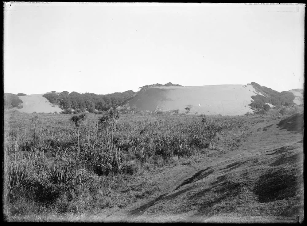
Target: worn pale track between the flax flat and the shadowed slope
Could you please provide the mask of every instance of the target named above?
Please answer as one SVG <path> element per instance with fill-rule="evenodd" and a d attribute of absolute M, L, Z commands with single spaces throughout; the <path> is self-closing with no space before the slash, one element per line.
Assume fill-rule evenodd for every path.
<path fill-rule="evenodd" d="M 214 169 L 219 175 L 225 174 L 225 165 L 235 164 L 238 159 L 253 158 L 263 155 L 263 153 L 280 148 L 284 145 L 291 145 L 302 141 L 303 134 L 293 131 L 282 130 L 278 127 L 281 119 L 270 122 L 256 124 L 252 128 L 252 135 L 242 142 L 238 149 L 232 150 L 216 157 L 200 159 L 193 166 L 179 165 L 173 168 L 167 168 L 160 172 L 155 172 L 151 180 L 155 181 L 160 187 L 160 194 L 157 198 L 142 199 L 138 202 L 127 205 L 121 209 L 103 210 L 103 213 L 96 215 L 102 221 L 148 221 L 152 219 L 155 222 L 164 222 L 164 220 L 185 221 L 188 215 L 183 213 L 178 216 L 172 215 L 167 219 L 161 219 L 161 216 L 146 215 L 146 209 L 155 205 L 161 200 L 171 200 L 174 196 L 184 192 L 186 189 L 180 189 L 181 186 L 195 181 L 203 172 L 210 173 Z M 160 219 L 160 220 L 159 220 Z"/>

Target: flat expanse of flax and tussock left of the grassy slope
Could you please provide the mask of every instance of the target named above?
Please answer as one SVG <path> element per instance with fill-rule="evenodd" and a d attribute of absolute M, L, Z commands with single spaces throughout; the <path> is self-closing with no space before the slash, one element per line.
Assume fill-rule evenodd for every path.
<path fill-rule="evenodd" d="M 87 115 L 78 139 L 70 115 L 38 114 L 34 142 L 31 115 L 5 111 L 6 214 L 122 208 L 157 194 L 157 185 L 146 179 L 154 170 L 225 153 L 240 145 L 251 125 L 272 119 L 158 112 L 121 115 L 112 124 L 110 143 L 99 115 Z"/>

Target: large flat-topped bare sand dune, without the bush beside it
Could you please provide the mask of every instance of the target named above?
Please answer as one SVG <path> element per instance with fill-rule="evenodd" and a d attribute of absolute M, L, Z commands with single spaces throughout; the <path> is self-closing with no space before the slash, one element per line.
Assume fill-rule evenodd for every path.
<path fill-rule="evenodd" d="M 206 115 L 243 115 L 252 111 L 251 96 L 262 95 L 251 85 L 205 85 L 185 87 L 151 87 L 129 101 L 140 110 L 179 110 Z"/>

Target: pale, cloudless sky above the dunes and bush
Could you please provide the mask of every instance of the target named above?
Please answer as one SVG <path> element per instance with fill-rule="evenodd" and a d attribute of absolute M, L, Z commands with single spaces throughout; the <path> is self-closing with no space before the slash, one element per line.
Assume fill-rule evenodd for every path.
<path fill-rule="evenodd" d="M 304 4 L 4 3 L 4 92 L 303 89 Z"/>

